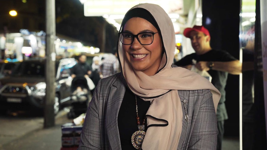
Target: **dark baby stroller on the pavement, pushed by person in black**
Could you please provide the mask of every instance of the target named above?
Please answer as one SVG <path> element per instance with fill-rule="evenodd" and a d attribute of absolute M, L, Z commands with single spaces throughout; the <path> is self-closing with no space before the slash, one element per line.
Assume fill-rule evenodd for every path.
<path fill-rule="evenodd" d="M 71 83 L 71 106 L 67 114 L 68 118 L 76 118 L 86 113 L 89 103 L 90 90 L 84 76 L 76 76 Z"/>

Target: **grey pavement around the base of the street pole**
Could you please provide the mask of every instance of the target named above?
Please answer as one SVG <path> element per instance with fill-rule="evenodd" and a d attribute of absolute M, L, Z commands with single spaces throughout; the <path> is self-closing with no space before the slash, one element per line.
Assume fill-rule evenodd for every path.
<path fill-rule="evenodd" d="M 67 113 L 61 110 L 50 128 L 43 127 L 43 117 L 1 117 L 0 150 L 60 150 L 61 125 L 72 122 Z"/>

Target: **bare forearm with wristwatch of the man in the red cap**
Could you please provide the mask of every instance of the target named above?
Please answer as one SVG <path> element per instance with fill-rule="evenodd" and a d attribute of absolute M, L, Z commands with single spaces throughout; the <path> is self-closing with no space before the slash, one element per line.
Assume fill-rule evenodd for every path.
<path fill-rule="evenodd" d="M 242 73 L 242 63 L 239 60 L 229 61 L 229 62 L 213 62 L 212 68 L 209 67 L 209 62 L 200 61 L 196 64 L 196 68 L 200 71 L 225 71 L 232 75 L 239 75 Z"/>

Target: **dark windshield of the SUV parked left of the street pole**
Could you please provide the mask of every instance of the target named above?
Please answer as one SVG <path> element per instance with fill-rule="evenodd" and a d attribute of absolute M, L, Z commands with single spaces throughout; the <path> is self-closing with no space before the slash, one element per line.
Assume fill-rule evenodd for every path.
<path fill-rule="evenodd" d="M 21 62 L 12 72 L 14 76 L 45 77 L 45 64 L 42 62 Z"/>

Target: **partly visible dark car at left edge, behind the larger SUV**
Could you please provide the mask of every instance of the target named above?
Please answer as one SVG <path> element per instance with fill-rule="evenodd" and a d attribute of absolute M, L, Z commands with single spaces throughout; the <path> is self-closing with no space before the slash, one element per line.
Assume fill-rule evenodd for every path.
<path fill-rule="evenodd" d="M 18 62 L 9 62 L 7 60 L 0 61 L 0 79 L 11 75 L 12 69 L 18 64 Z"/>

